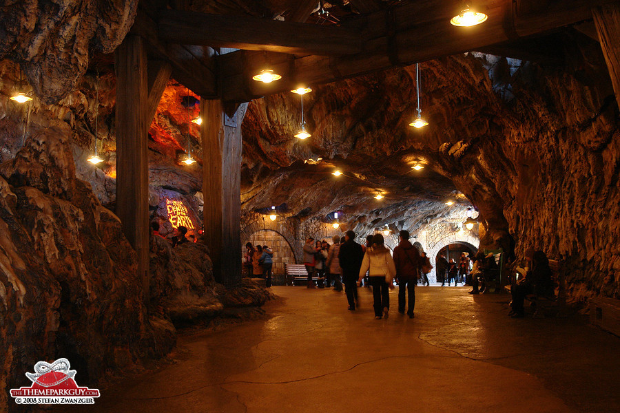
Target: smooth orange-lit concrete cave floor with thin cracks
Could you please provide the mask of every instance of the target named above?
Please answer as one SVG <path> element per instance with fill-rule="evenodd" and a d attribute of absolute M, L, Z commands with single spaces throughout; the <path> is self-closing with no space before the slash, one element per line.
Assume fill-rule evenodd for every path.
<path fill-rule="evenodd" d="M 507 295 L 418 287 L 415 319 L 273 287 L 268 317 L 180 335 L 175 362 L 88 412 L 620 412 L 620 338 L 583 317 L 510 319 Z"/>

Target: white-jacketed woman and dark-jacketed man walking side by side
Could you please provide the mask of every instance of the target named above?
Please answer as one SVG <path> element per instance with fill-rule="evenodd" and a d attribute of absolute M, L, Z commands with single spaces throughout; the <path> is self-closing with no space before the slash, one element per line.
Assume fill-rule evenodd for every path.
<path fill-rule="evenodd" d="M 366 271 L 369 271 L 370 285 L 373 288 L 373 307 L 375 319 L 389 316 L 389 289 L 394 288 L 393 281 L 398 280 L 398 313 L 404 314 L 406 295 L 409 295 L 407 315 L 413 318 L 415 307 L 415 284 L 418 279 L 418 268 L 422 265 L 420 253 L 409 242 L 409 232 L 400 231 L 399 244 L 394 248 L 394 257 L 384 246 L 383 235 L 375 234 L 372 246 L 366 249 L 362 267 L 358 275 L 361 284 Z"/>

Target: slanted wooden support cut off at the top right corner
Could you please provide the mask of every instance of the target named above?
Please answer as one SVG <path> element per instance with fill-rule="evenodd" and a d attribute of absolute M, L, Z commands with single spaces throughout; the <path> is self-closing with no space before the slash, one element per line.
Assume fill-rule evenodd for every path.
<path fill-rule="evenodd" d="M 592 17 L 620 107 L 620 2 L 593 8 Z"/>

